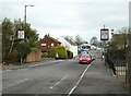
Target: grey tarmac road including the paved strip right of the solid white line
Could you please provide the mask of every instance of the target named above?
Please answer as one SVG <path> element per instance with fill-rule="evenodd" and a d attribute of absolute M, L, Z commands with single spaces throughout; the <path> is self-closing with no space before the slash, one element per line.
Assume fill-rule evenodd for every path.
<path fill-rule="evenodd" d="M 3 94 L 127 94 L 98 58 L 100 53 L 92 53 L 97 59 L 91 64 L 73 59 L 4 72 Z"/>

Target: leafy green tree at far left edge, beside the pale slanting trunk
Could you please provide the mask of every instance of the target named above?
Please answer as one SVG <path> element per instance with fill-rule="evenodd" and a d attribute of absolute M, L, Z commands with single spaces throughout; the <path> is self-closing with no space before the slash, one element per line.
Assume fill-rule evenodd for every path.
<path fill-rule="evenodd" d="M 13 35 L 13 23 L 5 17 L 2 21 L 2 61 L 8 60 Z"/>

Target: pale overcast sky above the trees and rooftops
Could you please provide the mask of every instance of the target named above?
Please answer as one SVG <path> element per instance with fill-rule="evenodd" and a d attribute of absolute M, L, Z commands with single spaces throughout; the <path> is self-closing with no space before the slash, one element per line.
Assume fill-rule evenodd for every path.
<path fill-rule="evenodd" d="M 80 35 L 90 41 L 99 40 L 100 28 L 106 25 L 115 31 L 129 25 L 130 0 L 0 0 L 0 22 L 4 17 L 24 21 L 25 4 L 27 23 L 37 29 L 39 37 Z"/>

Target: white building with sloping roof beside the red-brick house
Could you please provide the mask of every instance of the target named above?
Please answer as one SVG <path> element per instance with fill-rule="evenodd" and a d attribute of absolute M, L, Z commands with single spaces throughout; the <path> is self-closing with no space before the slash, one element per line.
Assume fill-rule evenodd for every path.
<path fill-rule="evenodd" d="M 72 46 L 69 41 L 67 41 L 63 37 L 59 37 L 58 40 L 61 43 L 61 45 L 73 52 L 73 57 L 78 56 L 78 46 Z"/>

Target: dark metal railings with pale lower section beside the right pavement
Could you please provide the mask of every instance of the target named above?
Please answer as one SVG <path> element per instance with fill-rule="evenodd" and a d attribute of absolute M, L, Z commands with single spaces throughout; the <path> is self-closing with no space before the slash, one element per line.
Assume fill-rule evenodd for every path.
<path fill-rule="evenodd" d="M 117 76 L 126 76 L 126 61 L 124 60 L 114 59 L 111 56 L 108 55 L 106 57 L 106 62 L 109 69 L 111 69 L 112 72 Z"/>

